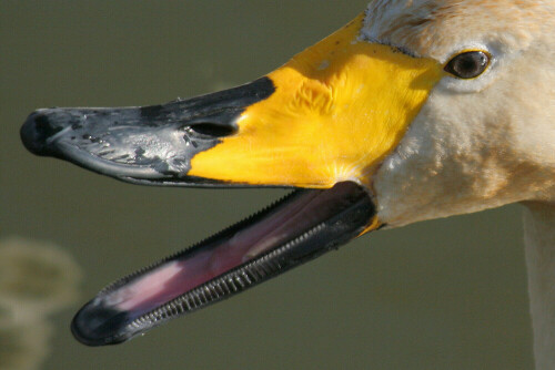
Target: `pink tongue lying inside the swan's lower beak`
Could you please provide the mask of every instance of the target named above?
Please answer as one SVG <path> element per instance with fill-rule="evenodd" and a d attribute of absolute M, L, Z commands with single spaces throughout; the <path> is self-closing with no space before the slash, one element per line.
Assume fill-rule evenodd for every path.
<path fill-rule="evenodd" d="M 345 195 L 337 184 L 329 191 L 297 196 L 269 216 L 238 232 L 214 248 L 186 259 L 165 263 L 137 280 L 110 292 L 107 302 L 119 310 L 150 311 L 184 292 L 235 268 L 333 216 Z"/>

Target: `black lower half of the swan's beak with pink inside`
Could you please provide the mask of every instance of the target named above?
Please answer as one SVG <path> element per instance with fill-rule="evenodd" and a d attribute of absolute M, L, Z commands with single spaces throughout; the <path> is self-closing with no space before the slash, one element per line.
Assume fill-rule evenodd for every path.
<path fill-rule="evenodd" d="M 78 312 L 73 333 L 92 346 L 124 341 L 335 248 L 360 235 L 372 216 L 372 202 L 355 183 L 295 191 L 107 287 Z"/>

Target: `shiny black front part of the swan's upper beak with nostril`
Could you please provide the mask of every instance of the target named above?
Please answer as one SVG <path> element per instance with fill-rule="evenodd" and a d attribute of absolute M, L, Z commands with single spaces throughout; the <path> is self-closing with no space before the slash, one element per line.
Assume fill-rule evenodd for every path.
<path fill-rule="evenodd" d="M 142 107 L 38 110 L 21 127 L 26 147 L 121 181 L 216 186 L 191 178 L 191 158 L 232 135 L 245 107 L 274 92 L 268 78 L 234 89 Z"/>

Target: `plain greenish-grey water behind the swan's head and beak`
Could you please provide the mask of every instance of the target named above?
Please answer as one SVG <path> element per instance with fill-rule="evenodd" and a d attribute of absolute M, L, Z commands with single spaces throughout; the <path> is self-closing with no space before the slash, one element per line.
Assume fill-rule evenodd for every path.
<path fill-rule="evenodd" d="M 532 368 L 518 206 L 374 233 L 121 346 L 87 348 L 69 332 L 107 282 L 283 192 L 118 183 L 27 153 L 27 114 L 161 103 L 251 81 L 364 4 L 0 2 L 0 236 L 54 243 L 84 274 L 79 302 L 53 319 L 41 369 Z"/>

